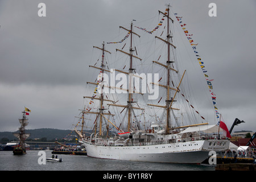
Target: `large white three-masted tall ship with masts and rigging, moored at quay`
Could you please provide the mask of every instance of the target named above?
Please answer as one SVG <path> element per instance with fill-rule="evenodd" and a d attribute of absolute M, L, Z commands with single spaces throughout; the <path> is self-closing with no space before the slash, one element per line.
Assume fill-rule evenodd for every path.
<path fill-rule="evenodd" d="M 170 29 L 171 23 L 174 23 L 170 15 L 170 5 L 167 6 L 165 13 L 159 11 L 159 14 L 163 15 L 163 19 L 167 21 L 167 35 L 166 38 L 161 38 L 160 36 L 155 36 L 155 38 L 165 44 L 167 60 L 166 63 L 160 63 L 158 59 L 158 61 L 153 61 L 153 64 L 160 67 L 160 72 L 163 72 L 166 78 L 163 79 L 164 84 L 160 84 L 162 77 L 160 80 L 151 82 L 150 84 L 159 86 L 161 90 L 165 90 L 165 93 L 160 96 L 160 100 L 165 102 L 165 105 L 159 105 L 159 100 L 158 103 L 155 104 L 146 104 L 145 106 L 147 108 L 140 106 L 142 104 L 138 102 L 140 100 L 136 96 L 142 96 L 143 93 L 141 93 L 139 89 L 135 89 L 133 84 L 134 77 L 138 77 L 139 80 L 142 81 L 141 75 L 136 74 L 134 67 L 134 59 L 138 61 L 142 60 L 137 57 L 137 55 L 134 55 L 135 52 L 137 53 L 137 49 L 133 45 L 133 36 L 139 35 L 134 32 L 133 22 L 130 24 L 130 29 L 120 27 L 127 31 L 126 38 L 130 36 L 130 52 L 122 51 L 122 49 L 116 49 L 116 51 L 124 53 L 125 56 L 129 56 L 129 72 L 125 72 L 121 69 L 109 70 L 106 64 L 105 54 L 110 54 L 111 52 L 105 49 L 105 43 L 102 44 L 101 48 L 94 47 L 102 51 L 101 65 L 100 67 L 96 67 L 95 64 L 90 65 L 90 67 L 99 69 L 100 76 L 98 76 L 97 82 L 87 82 L 90 85 L 96 85 L 96 89 L 92 97 L 84 97 L 85 99 L 90 99 L 92 102 L 90 102 L 90 106 L 82 111 L 84 114 L 82 115 L 83 125 L 86 121 L 86 116 L 94 115 L 94 119 L 89 121 L 94 124 L 92 128 L 93 133 L 90 134 L 89 137 L 86 137 L 86 135 L 82 133 L 82 130 L 80 131 L 75 127 L 76 133 L 80 136 L 80 142 L 85 146 L 87 155 L 90 157 L 142 162 L 201 163 L 208 158 L 210 151 L 219 152 L 229 148 L 229 140 L 226 137 L 220 136 L 222 130 L 219 126 L 209 125 L 208 122 L 198 122 L 193 125 L 184 126 L 183 123 L 185 119 L 182 118 L 182 122 L 178 121 L 175 111 L 180 111 L 180 109 L 174 107 L 174 104 L 178 102 L 176 100 L 177 95 L 183 93 L 181 81 L 183 80 L 185 71 L 181 76 L 177 68 L 174 67 L 176 60 L 175 56 L 172 54 L 176 47 L 172 42 L 173 35 Z M 129 89 L 126 89 L 123 85 L 113 86 L 104 80 L 106 76 L 104 73 L 113 73 L 113 71 L 129 75 L 129 81 L 127 82 Z M 179 81 L 175 82 L 174 78 L 179 78 Z M 116 104 L 119 100 L 117 101 L 115 96 L 113 96 L 113 100 L 110 100 L 110 96 L 108 97 L 108 94 L 102 92 L 104 88 L 110 88 L 110 94 L 111 89 L 126 91 L 127 104 Z M 100 93 L 99 90 L 101 90 Z M 93 108 L 92 103 L 94 104 L 96 101 L 100 103 L 97 108 Z M 152 102 L 154 102 L 154 100 L 152 100 L 151 103 Z M 119 113 L 113 114 L 115 107 L 121 108 L 121 112 L 119 111 Z M 150 119 L 148 119 L 148 123 L 146 123 L 147 119 L 144 114 L 147 112 L 147 109 L 152 113 L 152 111 L 154 111 L 152 107 L 162 110 L 161 117 L 159 118 L 154 114 L 148 114 Z M 142 113 L 135 114 L 136 110 Z M 122 119 L 120 119 L 121 114 L 123 114 Z M 142 123 L 139 121 L 142 119 L 138 118 L 138 115 L 140 115 L 141 118 L 144 117 L 145 122 Z M 120 120 L 118 125 L 117 119 Z M 188 123 L 191 122 L 188 121 Z M 117 134 L 110 134 L 111 127 L 117 130 Z"/>

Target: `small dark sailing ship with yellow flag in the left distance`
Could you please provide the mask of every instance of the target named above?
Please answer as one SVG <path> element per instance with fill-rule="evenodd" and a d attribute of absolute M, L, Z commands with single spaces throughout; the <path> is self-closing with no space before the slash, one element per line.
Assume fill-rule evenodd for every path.
<path fill-rule="evenodd" d="M 15 147 L 13 150 L 14 155 L 27 154 L 25 140 L 28 137 L 30 137 L 30 134 L 25 133 L 25 126 L 28 125 L 28 118 L 26 117 L 26 115 L 29 115 L 29 113 L 27 112 L 31 112 L 31 110 L 25 107 L 25 110 L 22 111 L 23 116 L 21 119 L 19 119 L 19 122 L 20 122 L 19 133 L 13 133 L 13 135 L 17 137 L 19 140 L 18 146 Z"/>

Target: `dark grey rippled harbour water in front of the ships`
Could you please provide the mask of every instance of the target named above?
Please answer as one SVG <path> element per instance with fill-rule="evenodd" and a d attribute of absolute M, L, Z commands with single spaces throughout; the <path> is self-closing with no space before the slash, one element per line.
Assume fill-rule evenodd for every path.
<path fill-rule="evenodd" d="M 45 150 L 46 158 L 52 151 Z M 131 162 L 90 158 L 86 155 L 57 155 L 63 162 L 39 164 L 39 151 L 27 151 L 26 155 L 13 155 L 13 151 L 0 151 L 0 171 L 214 171 L 215 166 L 199 164 L 170 164 Z"/>

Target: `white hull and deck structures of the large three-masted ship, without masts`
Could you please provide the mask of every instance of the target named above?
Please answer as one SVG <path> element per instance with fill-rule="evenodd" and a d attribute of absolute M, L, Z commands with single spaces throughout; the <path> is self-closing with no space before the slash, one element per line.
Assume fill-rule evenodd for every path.
<path fill-rule="evenodd" d="M 154 126 L 154 125 L 153 125 Z M 188 132 L 187 132 L 188 131 Z M 209 157 L 210 151 L 228 150 L 229 140 L 218 135 L 218 126 L 205 125 L 188 127 L 178 134 L 162 135 L 155 133 L 130 133 L 129 137 L 109 139 L 83 139 L 87 155 L 93 158 L 131 160 L 162 163 L 201 163 Z M 205 135 L 201 135 L 200 133 Z M 97 137 L 97 135 L 96 135 Z"/>

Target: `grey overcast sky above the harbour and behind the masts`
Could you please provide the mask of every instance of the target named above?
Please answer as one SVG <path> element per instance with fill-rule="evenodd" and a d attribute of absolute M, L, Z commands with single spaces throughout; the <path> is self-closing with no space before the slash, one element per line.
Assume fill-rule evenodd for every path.
<path fill-rule="evenodd" d="M 38 16 L 42 2 L 46 17 Z M 216 17 L 208 15 L 212 2 Z M 84 104 L 86 81 L 93 81 L 87 79 L 93 71 L 88 65 L 95 61 L 90 63 L 96 53 L 93 46 L 122 39 L 126 33 L 119 26 L 129 28 L 133 19 L 137 26 L 154 28 L 158 10 L 164 11 L 167 3 L 172 13 L 183 16 L 199 43 L 228 128 L 239 118 L 245 123 L 234 131 L 256 131 L 254 0 L 0 0 L 0 131 L 18 130 L 24 106 L 31 110 L 27 129 L 73 129 Z M 181 28 L 177 31 L 184 40 L 180 50 L 196 59 Z M 115 54 L 113 45 L 106 46 Z M 195 67 L 204 79 L 200 65 Z"/>

